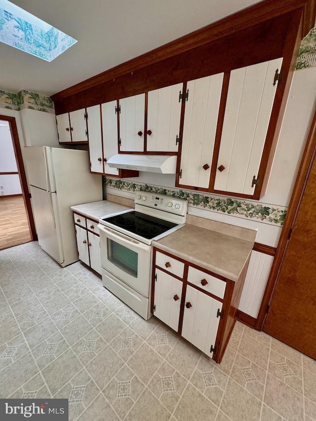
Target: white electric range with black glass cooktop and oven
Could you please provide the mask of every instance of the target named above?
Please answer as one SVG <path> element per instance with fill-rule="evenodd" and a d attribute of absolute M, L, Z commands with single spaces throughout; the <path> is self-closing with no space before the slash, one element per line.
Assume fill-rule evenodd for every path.
<path fill-rule="evenodd" d="M 151 317 L 153 240 L 184 226 L 188 202 L 136 191 L 135 209 L 99 219 L 103 285 L 144 319 Z"/>

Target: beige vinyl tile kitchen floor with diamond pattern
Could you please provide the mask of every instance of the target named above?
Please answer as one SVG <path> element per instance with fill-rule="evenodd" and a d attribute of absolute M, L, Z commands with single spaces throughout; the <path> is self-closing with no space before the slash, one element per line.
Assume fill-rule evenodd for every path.
<path fill-rule="evenodd" d="M 216 364 L 37 242 L 0 251 L 0 326 L 0 398 L 67 398 L 71 421 L 316 420 L 315 360 L 237 322 Z"/>

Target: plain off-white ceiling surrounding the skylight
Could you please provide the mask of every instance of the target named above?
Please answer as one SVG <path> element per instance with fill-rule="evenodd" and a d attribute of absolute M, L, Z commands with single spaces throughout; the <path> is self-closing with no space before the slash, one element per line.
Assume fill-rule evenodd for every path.
<path fill-rule="evenodd" d="M 13 0 L 78 42 L 52 62 L 0 42 L 0 89 L 52 95 L 258 0 Z"/>

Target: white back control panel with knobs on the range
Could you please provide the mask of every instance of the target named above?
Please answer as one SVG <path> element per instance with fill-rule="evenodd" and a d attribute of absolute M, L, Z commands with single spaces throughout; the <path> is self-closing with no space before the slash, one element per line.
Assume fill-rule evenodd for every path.
<path fill-rule="evenodd" d="M 188 201 L 151 191 L 135 191 L 135 205 L 143 205 L 183 216 L 187 213 Z"/>

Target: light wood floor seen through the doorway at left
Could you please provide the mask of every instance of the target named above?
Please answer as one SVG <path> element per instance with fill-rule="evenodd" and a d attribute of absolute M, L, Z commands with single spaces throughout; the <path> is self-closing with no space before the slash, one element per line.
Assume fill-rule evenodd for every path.
<path fill-rule="evenodd" d="M 0 250 L 32 241 L 22 195 L 0 197 Z"/>

